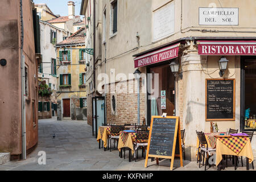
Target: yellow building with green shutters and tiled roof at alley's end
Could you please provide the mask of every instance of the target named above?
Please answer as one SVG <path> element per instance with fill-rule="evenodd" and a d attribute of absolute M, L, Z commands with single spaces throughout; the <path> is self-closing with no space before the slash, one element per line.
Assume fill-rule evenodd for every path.
<path fill-rule="evenodd" d="M 86 120 L 85 27 L 56 44 L 57 119 Z"/>

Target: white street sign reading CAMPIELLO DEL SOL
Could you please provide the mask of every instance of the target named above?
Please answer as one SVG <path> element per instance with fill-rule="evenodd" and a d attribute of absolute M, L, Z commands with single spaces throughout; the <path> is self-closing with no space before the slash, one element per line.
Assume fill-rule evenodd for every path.
<path fill-rule="evenodd" d="M 238 8 L 199 7 L 199 25 L 238 25 Z"/>

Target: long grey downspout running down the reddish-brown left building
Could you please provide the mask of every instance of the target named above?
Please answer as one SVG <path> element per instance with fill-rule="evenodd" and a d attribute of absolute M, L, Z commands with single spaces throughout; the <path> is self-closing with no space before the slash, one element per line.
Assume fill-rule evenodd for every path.
<path fill-rule="evenodd" d="M 25 67 L 24 67 L 24 59 L 23 59 L 23 37 L 24 37 L 24 32 L 23 32 L 23 11 L 22 11 L 22 0 L 20 0 L 20 26 L 21 26 L 21 37 L 20 37 L 20 64 L 21 64 L 21 98 L 22 98 L 22 159 L 26 160 L 27 158 L 27 147 L 26 147 L 26 107 L 25 107 Z"/>

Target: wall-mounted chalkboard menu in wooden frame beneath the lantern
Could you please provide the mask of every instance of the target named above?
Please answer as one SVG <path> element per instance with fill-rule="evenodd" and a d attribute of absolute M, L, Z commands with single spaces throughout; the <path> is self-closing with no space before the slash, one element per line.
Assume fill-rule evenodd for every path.
<path fill-rule="evenodd" d="M 206 80 L 206 121 L 235 120 L 234 79 Z"/>

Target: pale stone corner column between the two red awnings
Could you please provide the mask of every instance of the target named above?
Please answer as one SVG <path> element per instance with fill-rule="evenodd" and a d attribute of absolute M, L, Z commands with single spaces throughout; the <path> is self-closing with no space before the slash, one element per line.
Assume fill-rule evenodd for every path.
<path fill-rule="evenodd" d="M 205 74 L 204 64 L 197 49 L 192 45 L 184 51 L 181 59 L 183 69 L 181 125 L 185 129 L 186 159 L 196 160 L 197 131 L 205 129 Z"/>

